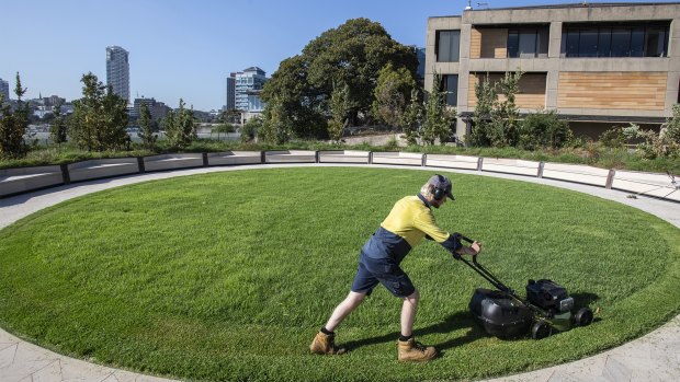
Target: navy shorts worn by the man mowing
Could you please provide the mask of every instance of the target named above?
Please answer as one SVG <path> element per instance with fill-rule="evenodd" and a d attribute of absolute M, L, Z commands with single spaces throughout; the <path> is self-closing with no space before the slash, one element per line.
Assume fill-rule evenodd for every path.
<path fill-rule="evenodd" d="M 382 283 L 395 297 L 405 298 L 416 291 L 416 287 L 393 258 L 372 258 L 363 251 L 359 256 L 359 269 L 352 281 L 352 291 L 370 296 L 373 288 Z"/>

